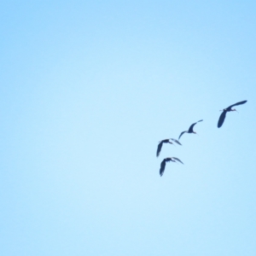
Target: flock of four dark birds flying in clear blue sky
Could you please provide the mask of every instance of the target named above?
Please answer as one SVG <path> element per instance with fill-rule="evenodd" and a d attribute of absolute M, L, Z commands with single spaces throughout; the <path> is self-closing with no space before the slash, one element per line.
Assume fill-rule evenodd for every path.
<path fill-rule="evenodd" d="M 230 111 L 236 111 L 236 112 L 237 112 L 237 110 L 236 110 L 235 108 L 233 108 L 233 107 L 238 106 L 238 105 L 241 105 L 241 104 L 244 104 L 244 103 L 246 103 L 246 102 L 247 102 L 247 101 L 237 102 L 236 104 L 233 104 L 233 105 L 231 105 L 231 106 L 228 107 L 228 108 L 224 108 L 223 110 L 220 110 L 220 111 L 222 111 L 222 113 L 221 113 L 221 115 L 219 116 L 219 119 L 218 119 L 218 125 L 217 125 L 218 128 L 220 128 L 220 127 L 223 125 L 224 119 L 225 119 L 225 117 L 226 117 L 226 113 L 228 113 L 228 112 L 230 112 Z M 202 121 L 202 120 L 199 120 L 199 121 L 197 121 L 196 123 L 190 125 L 189 130 L 188 130 L 188 131 L 183 131 L 183 132 L 180 134 L 180 136 L 178 137 L 178 140 L 176 140 L 176 139 L 174 139 L 174 138 L 170 138 L 170 139 L 165 139 L 165 140 L 160 141 L 159 144 L 158 144 L 158 147 L 157 147 L 156 156 L 158 157 L 158 156 L 160 155 L 160 151 L 161 151 L 161 148 L 162 148 L 162 146 L 163 146 L 163 143 L 170 143 L 170 144 L 177 143 L 177 144 L 179 144 L 179 145 L 182 145 L 182 144 L 179 142 L 180 137 L 182 137 L 184 133 L 196 133 L 196 132 L 193 130 L 193 128 L 194 128 L 194 126 L 195 126 L 197 123 L 199 123 L 199 122 L 201 122 L 201 121 Z M 172 161 L 172 162 L 180 162 L 180 163 L 183 164 L 183 162 L 182 162 L 181 160 L 179 160 L 177 157 L 167 157 L 167 158 L 165 158 L 164 160 L 162 160 L 161 165 L 160 165 L 160 176 L 162 176 L 162 175 L 164 174 L 164 172 L 165 172 L 165 169 L 166 169 L 166 162 L 170 162 L 170 161 Z"/>

